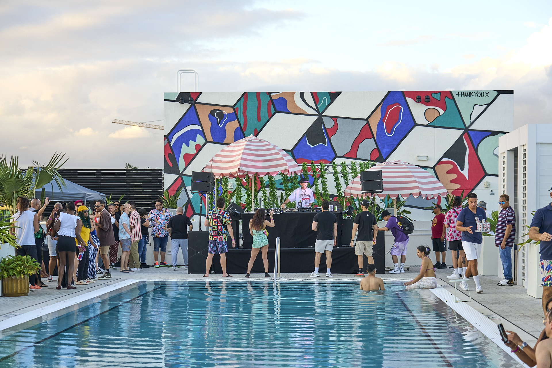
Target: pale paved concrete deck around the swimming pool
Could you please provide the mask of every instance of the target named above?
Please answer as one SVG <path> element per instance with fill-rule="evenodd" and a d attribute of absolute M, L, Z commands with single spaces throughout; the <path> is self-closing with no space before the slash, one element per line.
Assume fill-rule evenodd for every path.
<path fill-rule="evenodd" d="M 386 281 L 413 279 L 418 274 L 417 267 L 411 267 L 410 271 L 404 274 L 389 274 L 378 275 Z M 272 274 L 271 274 L 272 275 Z M 453 283 L 448 283 L 447 276 L 450 275 L 449 269 L 437 270 L 437 282 L 443 286 L 445 290 L 454 294 Z M 99 292 L 100 289 L 110 285 L 117 284 L 125 280 L 227 280 L 227 281 L 271 281 L 272 278 L 264 278 L 264 274 L 252 274 L 251 278 L 245 279 L 244 274 L 233 274 L 232 279 L 222 279 L 221 275 L 211 274 L 209 279 L 202 278 L 201 275 L 189 275 L 188 271 L 183 267 L 179 267 L 176 271 L 172 271 L 171 267 L 149 268 L 142 269 L 134 273 L 119 273 L 118 270 L 112 270 L 112 278 L 110 280 L 98 280 L 89 285 L 77 285 L 76 290 L 55 290 L 56 282 L 47 282 L 48 287 L 42 290 L 29 292 L 26 297 L 0 297 L 0 321 L 5 321 L 8 318 L 18 316 L 26 312 L 38 310 L 64 300 L 82 296 L 92 291 Z M 281 275 L 285 280 L 293 279 L 304 281 L 349 281 L 352 284 L 360 282 L 360 279 L 355 278 L 352 274 L 333 274 L 333 278 L 324 278 L 321 274 L 320 278 L 309 278 L 309 274 L 286 273 Z M 527 295 L 527 290 L 521 286 L 498 286 L 500 281 L 496 276 L 480 276 L 482 294 L 475 294 L 475 284 L 473 280 L 469 281 L 472 301 L 465 304 L 474 308 L 491 321 L 503 323 L 507 330 L 513 330 L 526 341 L 533 345 L 542 331 L 542 302 L 540 299 L 535 299 Z M 352 287 L 358 287 L 353 286 Z M 473 289 L 472 289 L 473 287 Z M 464 295 L 463 295 L 464 294 Z M 469 299 L 468 292 L 463 292 L 457 289 L 457 296 L 463 299 Z"/>

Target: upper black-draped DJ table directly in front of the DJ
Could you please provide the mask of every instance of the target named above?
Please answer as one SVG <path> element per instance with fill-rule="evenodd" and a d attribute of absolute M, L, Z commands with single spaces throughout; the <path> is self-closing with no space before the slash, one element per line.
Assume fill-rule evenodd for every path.
<path fill-rule="evenodd" d="M 274 214 L 274 227 L 267 227 L 268 248 L 276 247 L 276 238 L 280 237 L 281 248 L 314 247 L 316 231 L 312 231 L 312 219 L 320 212 L 282 212 Z M 332 212 L 337 217 L 337 244 L 341 245 L 341 212 Z M 249 221 L 252 213 L 242 215 L 243 248 L 251 249 L 253 237 L 249 232 Z M 270 217 L 267 214 L 267 220 Z M 352 227 L 351 227 L 352 228 Z M 349 239 L 351 239 L 349 230 Z M 349 242 L 351 242 L 349 240 Z M 349 243 L 347 242 L 347 244 Z"/>

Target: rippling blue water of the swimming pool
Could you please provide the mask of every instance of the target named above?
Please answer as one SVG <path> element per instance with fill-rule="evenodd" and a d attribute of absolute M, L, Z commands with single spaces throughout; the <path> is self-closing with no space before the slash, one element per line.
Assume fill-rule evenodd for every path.
<path fill-rule="evenodd" d="M 430 291 L 385 287 L 142 281 L 4 335 L 0 366 L 520 366 Z"/>

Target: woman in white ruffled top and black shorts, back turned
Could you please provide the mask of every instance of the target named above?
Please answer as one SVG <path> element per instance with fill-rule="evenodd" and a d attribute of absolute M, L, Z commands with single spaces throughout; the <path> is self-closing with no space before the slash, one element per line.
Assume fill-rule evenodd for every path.
<path fill-rule="evenodd" d="M 61 289 L 61 280 L 63 280 L 63 273 L 65 272 L 65 263 L 67 263 L 67 275 L 72 276 L 75 269 L 75 252 L 77 247 L 75 245 L 75 238 L 79 247 L 84 247 L 84 241 L 81 237 L 82 222 L 78 216 L 75 216 L 75 204 L 73 202 L 67 203 L 67 213 L 61 212 L 59 220 L 54 225 L 54 233 L 57 234 L 57 255 L 60 258 L 60 265 L 58 267 L 57 277 L 57 290 Z M 77 289 L 71 285 L 71 282 L 67 282 L 67 289 Z"/>

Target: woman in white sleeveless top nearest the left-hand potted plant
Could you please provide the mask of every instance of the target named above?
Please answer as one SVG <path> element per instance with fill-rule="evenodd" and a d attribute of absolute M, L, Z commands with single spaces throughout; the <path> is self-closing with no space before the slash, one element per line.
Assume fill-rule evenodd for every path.
<path fill-rule="evenodd" d="M 15 248 L 17 255 L 30 255 L 38 262 L 36 257 L 36 244 L 34 233 L 38 231 L 39 223 L 35 212 L 29 211 L 30 201 L 28 198 L 19 197 L 17 200 L 17 212 L 12 216 L 12 222 L 16 226 L 13 230 L 17 239 L 18 247 Z M 36 275 L 29 275 L 30 289 L 40 290 L 40 286 L 35 285 Z"/>

